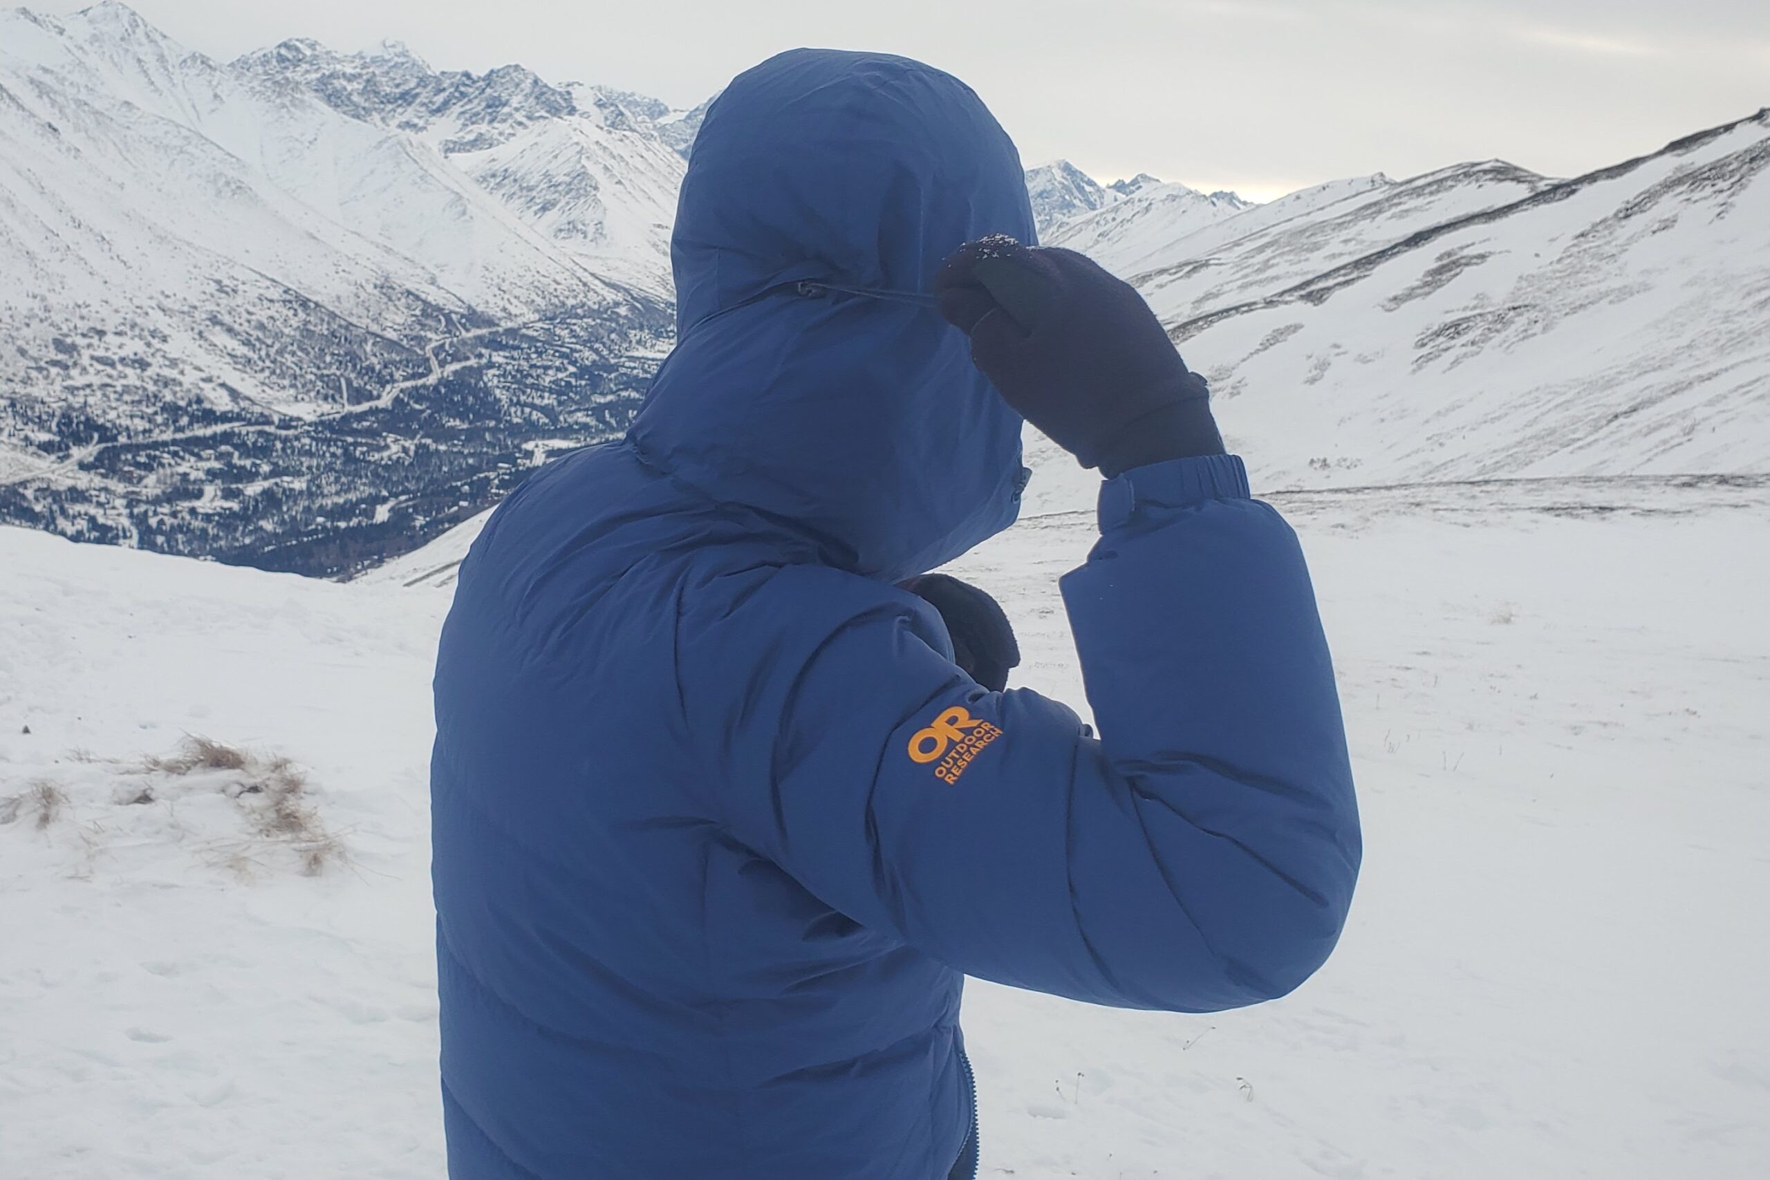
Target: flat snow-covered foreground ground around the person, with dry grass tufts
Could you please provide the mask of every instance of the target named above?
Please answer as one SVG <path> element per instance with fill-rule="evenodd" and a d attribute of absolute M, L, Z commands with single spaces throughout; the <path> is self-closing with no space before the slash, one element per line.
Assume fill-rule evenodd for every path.
<path fill-rule="evenodd" d="M 982 1175 L 1766 1175 L 1770 481 L 1280 502 L 1363 793 L 1345 941 L 1220 1015 L 974 984 Z M 1055 579 L 1090 540 L 1053 513 L 959 564 L 1076 704 Z M 441 1176 L 448 579 L 18 529 L 0 570 L 0 1176 Z"/>

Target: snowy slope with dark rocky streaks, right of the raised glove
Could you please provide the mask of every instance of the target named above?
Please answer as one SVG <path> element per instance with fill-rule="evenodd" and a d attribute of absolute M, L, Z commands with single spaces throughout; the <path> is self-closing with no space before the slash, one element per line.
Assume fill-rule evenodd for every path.
<path fill-rule="evenodd" d="M 1770 110 L 1281 203 L 1126 267 L 1267 485 L 1770 472 Z"/>

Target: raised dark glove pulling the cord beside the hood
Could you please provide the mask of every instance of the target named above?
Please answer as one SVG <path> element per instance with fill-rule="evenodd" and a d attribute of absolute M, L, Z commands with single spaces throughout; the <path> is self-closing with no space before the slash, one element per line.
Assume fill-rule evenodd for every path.
<path fill-rule="evenodd" d="M 947 258 L 935 294 L 1002 398 L 1083 467 L 1223 453 L 1205 379 L 1136 288 L 1083 255 L 984 237 Z"/>

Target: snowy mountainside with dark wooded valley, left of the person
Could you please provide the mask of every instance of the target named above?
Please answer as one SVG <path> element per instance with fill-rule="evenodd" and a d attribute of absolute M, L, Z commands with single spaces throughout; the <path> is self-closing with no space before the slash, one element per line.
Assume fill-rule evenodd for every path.
<path fill-rule="evenodd" d="M 331 573 L 621 428 L 671 331 L 667 117 L 0 12 L 0 518 Z"/>

